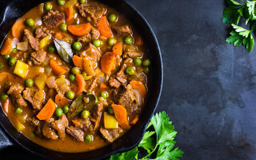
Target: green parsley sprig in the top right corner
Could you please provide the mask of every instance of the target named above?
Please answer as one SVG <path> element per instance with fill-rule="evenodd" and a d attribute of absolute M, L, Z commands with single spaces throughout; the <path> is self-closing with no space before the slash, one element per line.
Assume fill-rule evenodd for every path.
<path fill-rule="evenodd" d="M 234 46 L 246 46 L 246 50 L 251 52 L 254 48 L 253 33 L 256 29 L 256 0 L 240 1 L 225 0 L 228 7 L 223 10 L 222 22 L 230 23 L 234 30 L 230 32 L 230 37 L 226 38 L 226 42 L 234 44 Z M 245 25 L 250 23 L 250 29 L 238 26 L 241 18 L 245 18 Z M 235 23 L 235 24 L 234 24 Z"/>

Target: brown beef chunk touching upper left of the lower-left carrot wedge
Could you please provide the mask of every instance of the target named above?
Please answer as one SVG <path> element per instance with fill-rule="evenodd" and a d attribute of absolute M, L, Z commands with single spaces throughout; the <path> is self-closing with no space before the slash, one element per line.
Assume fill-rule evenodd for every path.
<path fill-rule="evenodd" d="M 31 103 L 34 110 L 42 109 L 42 102 L 44 102 L 46 94 L 42 90 L 38 90 L 35 87 L 26 87 L 26 90 L 23 90 L 23 98 Z"/>

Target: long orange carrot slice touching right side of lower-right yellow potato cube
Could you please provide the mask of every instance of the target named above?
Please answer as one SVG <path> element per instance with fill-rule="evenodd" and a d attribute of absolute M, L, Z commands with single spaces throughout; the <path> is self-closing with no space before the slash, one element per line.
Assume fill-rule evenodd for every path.
<path fill-rule="evenodd" d="M 117 121 L 122 128 L 129 129 L 130 125 L 127 119 L 126 108 L 122 105 L 112 104 L 112 108 L 114 110 L 114 116 L 117 118 Z"/>

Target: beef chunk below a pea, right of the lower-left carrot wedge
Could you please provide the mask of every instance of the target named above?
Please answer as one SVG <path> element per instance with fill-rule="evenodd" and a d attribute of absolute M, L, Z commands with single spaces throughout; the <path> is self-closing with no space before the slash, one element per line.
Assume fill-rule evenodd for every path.
<path fill-rule="evenodd" d="M 68 120 L 66 118 L 66 115 L 62 114 L 62 116 L 58 120 L 51 122 L 50 126 L 53 127 L 54 130 L 58 131 L 59 138 L 64 138 L 65 130 L 66 130 L 66 127 L 68 126 Z"/>

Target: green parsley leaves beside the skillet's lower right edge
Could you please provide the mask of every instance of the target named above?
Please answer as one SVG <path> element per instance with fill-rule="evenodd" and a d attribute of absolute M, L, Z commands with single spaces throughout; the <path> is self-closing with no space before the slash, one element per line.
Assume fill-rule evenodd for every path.
<path fill-rule="evenodd" d="M 114 154 L 110 160 L 178 160 L 183 152 L 174 148 L 176 134 L 166 112 L 155 114 L 138 146 L 122 154 Z M 138 158 L 138 154 L 141 155 L 144 150 L 146 150 L 146 155 Z"/>

